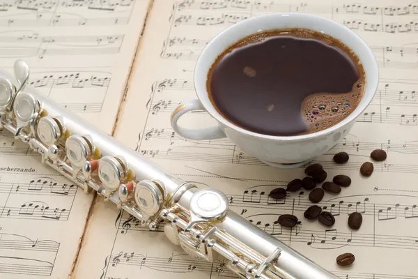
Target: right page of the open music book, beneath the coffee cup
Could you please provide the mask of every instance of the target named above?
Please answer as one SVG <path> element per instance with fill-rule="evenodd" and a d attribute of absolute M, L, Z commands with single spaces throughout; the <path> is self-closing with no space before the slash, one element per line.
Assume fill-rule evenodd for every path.
<path fill-rule="evenodd" d="M 313 162 L 323 165 L 327 181 L 336 174 L 352 179 L 350 187 L 339 195 L 325 193 L 319 204 L 334 215 L 332 227 L 304 218 L 311 205 L 309 191 L 288 193 L 277 201 L 268 197 L 274 188 L 302 179 L 303 167 L 265 166 L 227 139 L 185 140 L 173 133 L 169 123 L 179 103 L 196 98 L 194 65 L 211 38 L 249 17 L 289 11 L 345 24 L 366 40 L 380 65 L 376 98 L 350 135 Z M 155 0 L 116 137 L 181 179 L 222 190 L 233 211 L 340 278 L 417 279 L 417 14 L 418 4 L 413 1 Z M 215 123 L 204 113 L 183 118 L 180 123 L 188 127 Z M 359 168 L 371 160 L 374 149 L 387 151 L 387 160 L 373 162 L 373 174 L 364 178 Z M 333 162 L 339 151 L 349 153 L 348 163 Z M 358 231 L 347 224 L 353 211 L 363 215 Z M 292 229 L 281 227 L 277 218 L 284 213 L 294 214 L 301 223 Z M 235 277 L 223 262 L 188 257 L 162 229 L 149 232 L 100 199 L 86 232 L 77 278 Z M 336 264 L 336 257 L 344 252 L 355 255 L 353 265 Z"/>

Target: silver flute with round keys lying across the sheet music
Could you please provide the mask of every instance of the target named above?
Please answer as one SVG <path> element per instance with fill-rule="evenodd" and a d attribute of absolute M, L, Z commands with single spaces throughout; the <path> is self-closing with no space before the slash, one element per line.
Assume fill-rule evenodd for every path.
<path fill-rule="evenodd" d="M 222 260 L 239 278 L 335 279 L 299 252 L 229 209 L 219 190 L 198 189 L 128 149 L 27 85 L 29 66 L 0 70 L 0 123 L 85 193 L 95 190 L 188 255 Z"/>

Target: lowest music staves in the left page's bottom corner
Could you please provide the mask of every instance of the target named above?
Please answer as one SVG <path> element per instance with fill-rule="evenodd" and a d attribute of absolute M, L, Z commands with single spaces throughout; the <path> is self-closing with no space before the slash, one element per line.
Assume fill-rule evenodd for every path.
<path fill-rule="evenodd" d="M 0 274 L 51 276 L 60 243 L 0 233 Z"/>

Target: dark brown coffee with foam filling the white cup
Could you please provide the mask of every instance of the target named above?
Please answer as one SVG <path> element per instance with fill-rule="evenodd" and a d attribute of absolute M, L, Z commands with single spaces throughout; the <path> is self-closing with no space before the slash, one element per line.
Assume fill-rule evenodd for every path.
<path fill-rule="evenodd" d="M 212 105 L 265 135 L 304 135 L 350 115 L 364 93 L 358 58 L 339 40 L 307 29 L 265 31 L 225 50 L 208 73 Z"/>

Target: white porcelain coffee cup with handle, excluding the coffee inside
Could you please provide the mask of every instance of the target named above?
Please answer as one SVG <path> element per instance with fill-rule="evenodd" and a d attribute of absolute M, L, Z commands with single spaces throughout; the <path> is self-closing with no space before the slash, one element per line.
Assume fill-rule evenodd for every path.
<path fill-rule="evenodd" d="M 316 133 L 296 136 L 271 136 L 245 130 L 225 119 L 213 107 L 206 90 L 208 70 L 217 56 L 245 36 L 259 31 L 285 28 L 305 28 L 326 33 L 341 40 L 359 57 L 366 74 L 365 93 L 356 109 L 339 123 Z M 300 167 L 338 144 L 355 124 L 357 117 L 371 103 L 378 87 L 378 63 L 369 46 L 355 32 L 338 22 L 304 13 L 272 13 L 251 17 L 219 33 L 206 45 L 194 69 L 194 87 L 198 99 L 180 104 L 171 114 L 171 126 L 191 140 L 229 139 L 246 153 L 272 167 Z M 178 119 L 186 112 L 205 110 L 216 119 L 217 125 L 201 129 L 178 126 Z"/>

